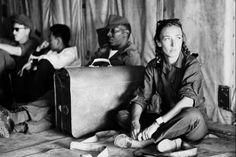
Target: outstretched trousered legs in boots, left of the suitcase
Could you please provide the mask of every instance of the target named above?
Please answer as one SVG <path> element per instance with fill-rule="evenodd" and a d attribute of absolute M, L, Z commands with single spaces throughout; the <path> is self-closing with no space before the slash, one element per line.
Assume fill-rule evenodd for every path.
<path fill-rule="evenodd" d="M 28 103 L 27 105 L 22 105 L 21 106 L 22 110 L 16 112 L 10 112 L 7 109 L 0 106 L 0 135 L 1 135 L 1 130 L 3 133 L 5 132 L 5 130 L 8 130 L 8 134 L 12 132 L 12 129 L 9 129 L 11 128 L 10 122 L 12 122 L 13 125 L 15 125 L 15 128 L 18 128 L 18 130 L 16 130 L 17 132 L 26 131 L 26 130 L 19 130 L 19 128 L 27 129 L 30 126 L 32 127 L 40 126 L 42 128 L 45 128 L 45 125 L 48 126 L 47 122 L 42 121 L 43 124 L 35 125 L 35 123 L 34 124 L 32 123 L 32 125 L 25 127 L 25 125 L 27 125 L 26 122 L 28 121 L 37 122 L 48 116 L 48 112 L 51 106 L 53 105 L 53 98 L 54 98 L 53 91 L 49 91 L 39 100 Z M 22 124 L 24 126 L 20 127 L 20 125 Z M 32 128 L 31 130 L 35 130 L 35 128 Z M 40 128 L 38 130 L 40 130 Z"/>

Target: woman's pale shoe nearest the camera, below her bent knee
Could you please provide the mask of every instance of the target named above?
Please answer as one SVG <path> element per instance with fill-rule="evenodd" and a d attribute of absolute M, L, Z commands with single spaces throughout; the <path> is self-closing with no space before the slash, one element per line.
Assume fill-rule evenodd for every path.
<path fill-rule="evenodd" d="M 181 149 L 182 140 L 180 138 L 169 140 L 164 139 L 157 144 L 157 150 L 162 153 L 177 151 Z"/>

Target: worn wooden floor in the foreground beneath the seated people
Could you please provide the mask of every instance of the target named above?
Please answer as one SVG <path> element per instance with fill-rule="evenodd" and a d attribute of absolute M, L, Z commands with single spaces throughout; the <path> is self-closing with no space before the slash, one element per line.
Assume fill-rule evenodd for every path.
<path fill-rule="evenodd" d="M 211 129 L 219 126 L 212 125 Z M 222 128 L 227 128 L 221 126 Z M 233 136 L 219 137 L 213 134 L 207 136 L 201 143 L 194 145 L 198 148 L 198 157 L 235 157 L 235 126 Z M 227 129 L 226 129 L 227 130 Z M 226 133 L 225 133 L 226 134 Z M 96 156 L 98 152 L 85 152 L 80 150 L 70 150 L 71 141 L 81 141 L 69 135 L 64 135 L 55 130 L 47 130 L 37 134 L 12 134 L 10 138 L 0 138 L 0 157 L 79 157 L 81 154 L 92 154 Z M 98 142 L 108 148 L 109 156 L 112 157 L 132 157 L 134 149 L 120 149 L 113 143 Z M 149 149 L 149 148 L 146 148 Z"/>

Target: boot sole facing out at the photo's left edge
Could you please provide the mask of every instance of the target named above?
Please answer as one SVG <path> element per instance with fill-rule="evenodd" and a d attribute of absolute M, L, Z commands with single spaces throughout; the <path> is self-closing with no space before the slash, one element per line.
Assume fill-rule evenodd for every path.
<path fill-rule="evenodd" d="M 14 122 L 9 117 L 9 111 L 0 105 L 0 137 L 9 138 L 14 128 Z"/>

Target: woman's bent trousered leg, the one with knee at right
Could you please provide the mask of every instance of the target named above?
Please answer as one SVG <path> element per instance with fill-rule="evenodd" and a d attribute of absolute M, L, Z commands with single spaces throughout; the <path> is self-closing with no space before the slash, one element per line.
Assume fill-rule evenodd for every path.
<path fill-rule="evenodd" d="M 186 108 L 168 123 L 162 125 L 153 134 L 153 138 L 156 142 L 177 137 L 183 137 L 189 141 L 198 141 L 207 132 L 207 125 L 200 111 L 196 108 Z"/>

